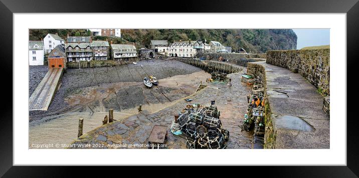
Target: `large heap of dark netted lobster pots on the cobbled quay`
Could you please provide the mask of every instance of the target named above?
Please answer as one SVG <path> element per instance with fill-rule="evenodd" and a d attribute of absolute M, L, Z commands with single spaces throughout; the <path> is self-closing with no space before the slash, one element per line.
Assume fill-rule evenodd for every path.
<path fill-rule="evenodd" d="M 178 117 L 178 123 L 186 135 L 187 148 L 225 148 L 229 131 L 222 128 L 220 113 L 216 106 L 198 107 Z"/>

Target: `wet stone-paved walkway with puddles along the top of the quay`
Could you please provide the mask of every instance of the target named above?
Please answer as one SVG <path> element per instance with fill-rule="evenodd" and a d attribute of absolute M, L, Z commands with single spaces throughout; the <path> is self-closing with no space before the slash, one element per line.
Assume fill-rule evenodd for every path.
<path fill-rule="evenodd" d="M 264 61 L 275 148 L 329 148 L 329 116 L 315 86 L 286 68 Z M 267 125 L 266 125 L 267 126 Z"/>

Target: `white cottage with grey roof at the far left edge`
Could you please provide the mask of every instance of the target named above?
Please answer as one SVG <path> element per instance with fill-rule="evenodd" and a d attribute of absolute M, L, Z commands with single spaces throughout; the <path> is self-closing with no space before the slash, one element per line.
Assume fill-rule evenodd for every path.
<path fill-rule="evenodd" d="M 29 41 L 29 65 L 44 65 L 43 41 Z"/>

